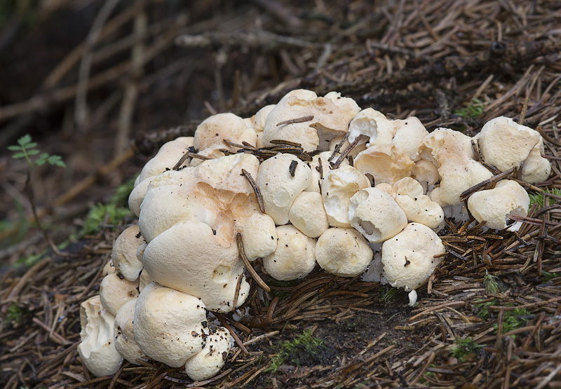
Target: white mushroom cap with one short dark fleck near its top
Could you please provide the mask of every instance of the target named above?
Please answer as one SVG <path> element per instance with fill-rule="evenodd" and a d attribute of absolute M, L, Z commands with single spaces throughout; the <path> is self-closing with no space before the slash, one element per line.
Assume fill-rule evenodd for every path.
<path fill-rule="evenodd" d="M 290 174 L 291 165 L 296 165 L 294 176 Z M 277 225 L 288 223 L 292 202 L 309 186 L 310 178 L 309 166 L 292 154 L 279 153 L 259 166 L 255 181 L 263 198 L 265 213 Z"/>

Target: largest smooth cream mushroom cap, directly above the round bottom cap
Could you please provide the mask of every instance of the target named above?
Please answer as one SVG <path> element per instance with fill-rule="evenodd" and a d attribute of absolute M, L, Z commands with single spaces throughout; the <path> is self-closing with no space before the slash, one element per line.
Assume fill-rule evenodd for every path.
<path fill-rule="evenodd" d="M 228 312 L 235 308 L 243 262 L 236 245 L 224 247 L 208 224 L 194 219 L 161 233 L 147 245 L 144 266 L 158 283 L 201 296 L 208 310 Z M 243 277 L 238 306 L 247 299 L 248 292 L 249 284 Z"/>

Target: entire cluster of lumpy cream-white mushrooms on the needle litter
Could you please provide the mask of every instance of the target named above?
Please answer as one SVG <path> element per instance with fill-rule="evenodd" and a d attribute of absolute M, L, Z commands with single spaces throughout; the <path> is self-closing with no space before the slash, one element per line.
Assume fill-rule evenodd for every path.
<path fill-rule="evenodd" d="M 217 374 L 232 341 L 208 311 L 248 299 L 244 272 L 261 281 L 257 258 L 277 280 L 318 264 L 403 287 L 413 304 L 444 257 L 445 217 L 502 229 L 527 214 L 517 180 L 466 191 L 513 168 L 529 183 L 547 179 L 542 152 L 539 133 L 509 118 L 473 138 L 428 133 L 415 117 L 391 120 L 333 92 L 293 90 L 251 118 L 211 116 L 137 178 L 138 225 L 116 239 L 100 296 L 81 305 L 81 359 L 96 376 L 147 357 L 194 380 Z"/>

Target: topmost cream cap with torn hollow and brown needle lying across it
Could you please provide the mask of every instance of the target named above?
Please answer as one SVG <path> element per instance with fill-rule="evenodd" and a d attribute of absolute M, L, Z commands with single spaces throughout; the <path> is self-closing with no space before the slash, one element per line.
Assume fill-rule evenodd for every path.
<path fill-rule="evenodd" d="M 347 131 L 358 111 L 360 107 L 354 100 L 337 93 L 318 97 L 311 90 L 292 90 L 267 116 L 262 140 L 266 146 L 273 139 L 285 139 L 302 144 L 304 151 L 325 151 L 334 137 Z M 304 116 L 313 119 L 278 125 Z"/>

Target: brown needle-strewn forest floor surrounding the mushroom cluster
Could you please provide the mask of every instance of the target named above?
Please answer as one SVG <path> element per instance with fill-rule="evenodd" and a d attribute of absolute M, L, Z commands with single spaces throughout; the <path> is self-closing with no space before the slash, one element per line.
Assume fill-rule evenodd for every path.
<path fill-rule="evenodd" d="M 378 3 L 0 5 L 2 387 L 561 387 L 561 4 Z M 235 347 L 219 376 L 193 383 L 154 361 L 90 376 L 76 352 L 79 305 L 135 223 L 120 210 L 126 183 L 210 114 L 249 117 L 295 88 L 336 90 L 429 131 L 475 135 L 508 116 L 539 128 L 553 171 L 527 187 L 534 205 L 518 233 L 449 223 L 445 260 L 414 307 L 405 292 L 318 268 L 299 282 L 265 278 L 273 294 L 248 299 L 252 320 L 224 319 L 248 355 Z M 66 163 L 37 166 L 29 182 L 65 255 L 34 223 L 27 164 L 7 150 L 25 134 Z"/>

